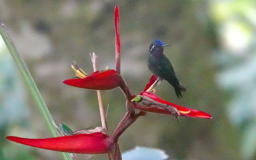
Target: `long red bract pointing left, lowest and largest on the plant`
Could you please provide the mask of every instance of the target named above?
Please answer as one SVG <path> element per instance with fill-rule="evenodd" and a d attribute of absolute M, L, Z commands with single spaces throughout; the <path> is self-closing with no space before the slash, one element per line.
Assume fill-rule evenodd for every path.
<path fill-rule="evenodd" d="M 29 139 L 15 136 L 6 138 L 32 147 L 69 153 L 104 154 L 114 148 L 112 137 L 102 127 L 97 127 L 94 130 L 80 130 L 69 136 L 55 138 Z"/>

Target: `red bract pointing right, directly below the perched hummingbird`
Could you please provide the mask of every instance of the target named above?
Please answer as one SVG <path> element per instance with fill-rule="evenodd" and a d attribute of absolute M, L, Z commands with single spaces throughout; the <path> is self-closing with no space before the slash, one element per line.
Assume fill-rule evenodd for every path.
<path fill-rule="evenodd" d="M 161 98 L 156 96 L 156 94 L 154 94 L 154 93 L 142 92 L 142 93 L 140 93 L 140 95 L 147 96 L 151 100 L 159 102 L 163 105 L 161 105 L 161 107 L 152 107 L 152 106 L 150 106 L 150 104 L 147 104 L 148 106 L 145 106 L 144 104 L 140 104 L 139 102 L 138 103 L 134 102 L 134 108 L 135 109 L 139 109 L 139 110 L 146 111 L 146 112 L 158 113 L 158 114 L 173 115 L 173 113 L 170 112 L 170 110 L 168 110 L 168 106 L 169 107 L 172 106 L 172 107 L 174 107 L 178 110 L 178 112 L 180 113 L 180 116 L 198 117 L 198 118 L 212 118 L 212 116 L 210 114 L 202 112 L 200 110 L 194 110 L 194 109 L 191 109 L 191 108 L 186 108 L 186 107 L 179 106 L 177 104 L 168 102 L 166 100 L 162 100 Z M 162 106 L 164 106 L 164 107 L 162 107 Z"/>

